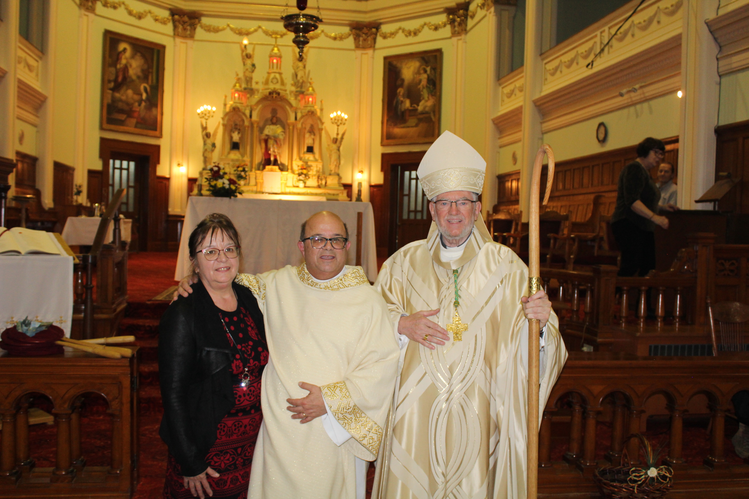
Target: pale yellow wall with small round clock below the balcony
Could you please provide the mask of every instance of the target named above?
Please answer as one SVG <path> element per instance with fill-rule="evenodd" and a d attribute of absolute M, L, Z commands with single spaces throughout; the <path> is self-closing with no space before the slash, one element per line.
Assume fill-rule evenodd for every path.
<path fill-rule="evenodd" d="M 608 128 L 604 144 L 595 139 L 595 129 L 601 121 Z M 544 142 L 551 145 L 555 159 L 562 161 L 631 146 L 646 137 L 675 135 L 679 135 L 679 97 L 668 94 L 545 133 Z"/>

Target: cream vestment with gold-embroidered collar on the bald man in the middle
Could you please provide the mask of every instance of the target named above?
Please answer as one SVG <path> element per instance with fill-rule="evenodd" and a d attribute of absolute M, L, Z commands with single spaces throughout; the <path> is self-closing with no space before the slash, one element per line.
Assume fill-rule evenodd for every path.
<path fill-rule="evenodd" d="M 270 361 L 263 372 L 263 423 L 252 459 L 249 498 L 356 497 L 354 456 L 374 461 L 398 371 L 398 345 L 382 296 L 360 267 L 315 282 L 302 264 L 237 275 L 264 314 Z M 322 389 L 353 438 L 336 446 L 321 417 L 292 420 L 286 399 Z"/>

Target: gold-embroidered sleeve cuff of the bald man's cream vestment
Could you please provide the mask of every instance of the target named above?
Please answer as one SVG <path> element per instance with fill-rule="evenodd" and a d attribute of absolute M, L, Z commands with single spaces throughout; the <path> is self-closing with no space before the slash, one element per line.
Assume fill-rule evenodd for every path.
<path fill-rule="evenodd" d="M 383 430 L 380 425 L 371 420 L 351 399 L 351 394 L 346 387 L 346 382 L 335 382 L 330 385 L 321 386 L 325 402 L 327 402 L 333 416 L 336 417 L 341 426 L 351 436 L 369 450 L 372 455 L 377 456 Z"/>

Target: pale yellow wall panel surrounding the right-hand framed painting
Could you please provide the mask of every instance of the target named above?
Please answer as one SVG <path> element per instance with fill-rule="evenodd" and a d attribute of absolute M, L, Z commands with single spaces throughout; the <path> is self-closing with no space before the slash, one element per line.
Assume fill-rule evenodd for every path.
<path fill-rule="evenodd" d="M 398 24 L 383 25 L 383 31 L 392 31 L 398 26 L 404 28 L 416 28 L 422 22 L 437 23 L 445 19 L 445 16 L 431 16 L 413 19 Z M 455 98 L 455 85 L 452 79 L 455 67 L 455 56 L 450 38 L 450 29 L 443 28 L 440 31 L 424 31 L 415 38 L 404 37 L 398 34 L 389 40 L 377 38 L 375 47 L 375 65 L 372 76 L 372 154 L 370 183 L 378 184 L 383 181 L 383 173 L 380 171 L 381 156 L 383 153 L 399 153 L 405 151 L 427 150 L 430 144 L 404 144 L 397 146 L 380 145 L 382 137 L 382 91 L 383 91 L 383 64 L 388 55 L 407 54 L 409 52 L 421 52 L 423 50 L 442 49 L 442 103 L 440 111 L 440 132 L 453 129 L 452 100 Z"/>

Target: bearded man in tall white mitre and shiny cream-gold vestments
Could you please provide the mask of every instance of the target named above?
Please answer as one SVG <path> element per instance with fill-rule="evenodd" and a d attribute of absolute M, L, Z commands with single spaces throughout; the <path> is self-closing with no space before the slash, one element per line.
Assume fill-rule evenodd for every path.
<path fill-rule="evenodd" d="M 527 497 L 527 319 L 541 410 L 567 352 L 548 297 L 528 297 L 527 266 L 479 218 L 485 168 L 450 132 L 431 145 L 417 173 L 435 223 L 375 282 L 404 352 L 373 499 Z"/>

